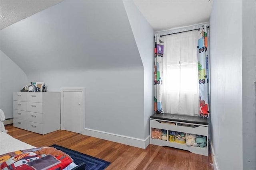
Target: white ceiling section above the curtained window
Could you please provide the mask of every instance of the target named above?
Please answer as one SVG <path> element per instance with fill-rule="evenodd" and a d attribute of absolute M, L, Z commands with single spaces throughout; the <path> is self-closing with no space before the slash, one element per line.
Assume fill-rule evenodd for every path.
<path fill-rule="evenodd" d="M 134 0 L 154 30 L 208 22 L 212 0 Z"/>

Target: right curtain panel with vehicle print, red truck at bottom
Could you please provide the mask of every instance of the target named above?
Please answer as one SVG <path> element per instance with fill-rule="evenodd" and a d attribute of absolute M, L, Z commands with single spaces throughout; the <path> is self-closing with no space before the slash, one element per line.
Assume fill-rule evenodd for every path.
<path fill-rule="evenodd" d="M 197 58 L 198 58 L 198 79 L 199 79 L 199 115 L 208 118 L 209 103 L 209 74 L 208 74 L 208 39 L 206 25 L 202 25 L 200 39 L 198 39 Z"/>

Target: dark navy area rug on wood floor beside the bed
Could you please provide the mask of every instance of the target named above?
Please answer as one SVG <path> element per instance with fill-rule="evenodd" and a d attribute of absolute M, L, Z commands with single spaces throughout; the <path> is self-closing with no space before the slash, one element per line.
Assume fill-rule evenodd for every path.
<path fill-rule="evenodd" d="M 76 150 L 61 147 L 59 145 L 52 145 L 51 147 L 61 150 L 71 156 L 71 158 L 74 160 L 74 163 L 77 165 L 84 162 L 86 170 L 104 170 L 108 165 L 111 164 L 110 162 L 107 162 L 105 160 L 95 158 L 88 154 L 77 152 Z"/>

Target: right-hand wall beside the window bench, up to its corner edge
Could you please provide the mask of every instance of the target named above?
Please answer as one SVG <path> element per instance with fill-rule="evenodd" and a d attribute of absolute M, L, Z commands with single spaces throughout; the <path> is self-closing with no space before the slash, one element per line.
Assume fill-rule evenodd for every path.
<path fill-rule="evenodd" d="M 214 1 L 210 16 L 212 144 L 220 170 L 242 170 L 242 1 Z"/>

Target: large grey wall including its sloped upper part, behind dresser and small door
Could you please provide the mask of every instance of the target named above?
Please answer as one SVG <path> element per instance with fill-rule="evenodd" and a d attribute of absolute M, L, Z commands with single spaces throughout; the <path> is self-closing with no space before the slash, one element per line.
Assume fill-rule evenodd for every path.
<path fill-rule="evenodd" d="M 144 69 L 122 1 L 63 1 L 0 36 L 29 81 L 86 88 L 86 128 L 145 139 Z"/>

